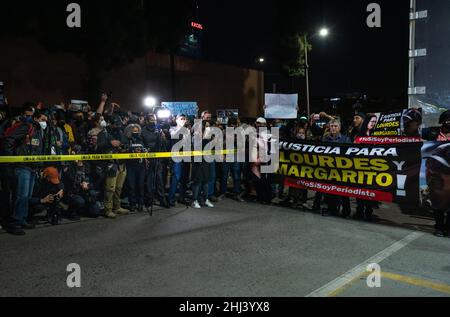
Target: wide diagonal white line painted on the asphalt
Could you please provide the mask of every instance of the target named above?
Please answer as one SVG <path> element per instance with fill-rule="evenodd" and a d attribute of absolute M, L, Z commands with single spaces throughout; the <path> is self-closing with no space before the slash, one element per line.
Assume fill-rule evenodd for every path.
<path fill-rule="evenodd" d="M 347 284 L 351 283 L 353 280 L 365 273 L 369 264 L 381 263 L 382 261 L 386 260 L 393 254 L 406 247 L 408 244 L 422 237 L 423 235 L 424 233 L 421 232 L 413 232 L 409 234 L 404 239 L 394 243 L 393 245 L 381 251 L 377 255 L 371 257 L 367 261 L 364 261 L 363 263 L 359 264 L 347 273 L 341 275 L 334 281 L 331 281 L 330 283 L 322 286 L 314 292 L 306 295 L 306 297 L 328 297 L 330 294 L 336 292 L 338 289 L 345 287 Z"/>

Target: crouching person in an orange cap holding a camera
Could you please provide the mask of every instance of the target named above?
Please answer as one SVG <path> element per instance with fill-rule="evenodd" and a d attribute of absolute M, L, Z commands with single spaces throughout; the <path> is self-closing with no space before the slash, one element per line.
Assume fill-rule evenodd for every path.
<path fill-rule="evenodd" d="M 52 225 L 58 225 L 62 219 L 61 200 L 64 196 L 64 184 L 61 182 L 59 172 L 54 167 L 47 167 L 42 172 L 41 182 L 38 184 L 30 207 L 33 214 L 47 213 L 47 220 Z"/>

